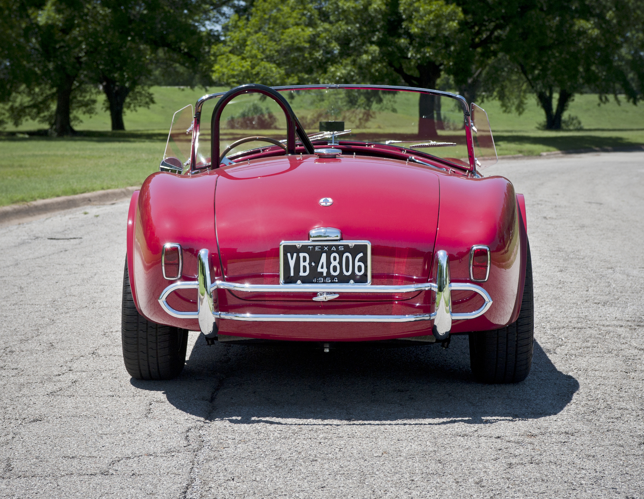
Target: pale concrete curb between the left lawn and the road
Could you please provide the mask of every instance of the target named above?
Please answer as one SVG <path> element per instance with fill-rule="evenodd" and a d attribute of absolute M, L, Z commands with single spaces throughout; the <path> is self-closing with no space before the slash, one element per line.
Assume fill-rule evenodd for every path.
<path fill-rule="evenodd" d="M 50 199 L 38 199 L 30 203 L 0 206 L 0 226 L 20 224 L 54 212 L 90 206 L 92 204 L 110 204 L 129 199 L 137 186 L 120 189 L 97 190 L 84 194 L 64 195 Z"/>

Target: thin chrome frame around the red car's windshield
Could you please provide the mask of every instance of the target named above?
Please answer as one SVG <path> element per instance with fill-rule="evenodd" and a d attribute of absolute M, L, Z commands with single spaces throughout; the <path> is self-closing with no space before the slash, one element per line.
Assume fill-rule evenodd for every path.
<path fill-rule="evenodd" d="M 455 165 L 458 168 L 464 168 L 466 170 L 469 170 L 471 172 L 476 172 L 476 165 L 475 165 L 475 156 L 474 156 L 474 141 L 472 137 L 472 130 L 471 130 L 471 115 L 469 112 L 469 105 L 467 100 L 464 98 L 464 96 L 459 95 L 459 94 L 454 94 L 451 92 L 444 92 L 440 90 L 431 90 L 431 89 L 426 89 L 426 88 L 418 88 L 418 87 L 401 87 L 401 86 L 389 86 L 389 85 L 349 85 L 349 84 L 327 84 L 327 85 L 287 85 L 287 86 L 278 86 L 278 87 L 269 87 L 272 90 L 275 91 L 289 91 L 289 90 L 323 90 L 323 89 L 345 89 L 345 90 L 390 90 L 390 91 L 400 91 L 400 92 L 413 92 L 413 93 L 424 93 L 427 95 L 435 95 L 435 96 L 441 96 L 441 97 L 448 97 L 448 98 L 453 98 L 457 101 L 460 102 L 460 105 L 463 109 L 463 116 L 464 116 L 464 121 L 465 121 L 465 135 L 466 135 L 466 142 L 467 142 L 467 147 L 468 147 L 468 161 L 469 161 L 469 168 L 465 168 L 463 166 Z M 204 103 L 207 100 L 211 100 L 214 98 L 219 98 L 223 95 L 226 95 L 227 93 L 231 92 L 225 91 L 225 92 L 216 92 L 212 94 L 207 94 L 202 97 L 200 97 L 196 104 L 194 105 L 194 125 L 193 125 L 193 147 L 191 150 L 191 157 L 190 157 L 190 171 L 191 173 L 193 172 L 198 172 L 200 170 L 204 170 L 206 167 L 201 167 L 201 168 L 195 168 L 194 165 L 196 165 L 196 147 L 197 147 L 197 142 L 198 142 L 198 136 L 199 136 L 199 131 L 200 131 L 200 123 L 201 123 L 201 114 L 202 114 L 202 107 L 204 106 Z M 211 127 L 211 134 L 213 130 Z M 386 144 L 383 144 L 386 145 Z M 404 148 L 401 148 L 404 149 Z M 419 151 L 413 151 L 418 153 Z M 441 159 L 441 158 L 439 158 Z M 212 159 L 211 159 L 212 161 Z M 450 163 L 452 164 L 452 163 Z M 210 166 L 210 165 L 208 165 Z M 219 165 L 217 165 L 219 166 Z"/>

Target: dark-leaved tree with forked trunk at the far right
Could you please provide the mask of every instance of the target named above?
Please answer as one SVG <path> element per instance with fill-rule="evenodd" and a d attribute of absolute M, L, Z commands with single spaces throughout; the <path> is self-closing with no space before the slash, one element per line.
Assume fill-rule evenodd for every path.
<path fill-rule="evenodd" d="M 508 111 L 521 112 L 527 95 L 536 95 L 551 130 L 562 128 L 574 95 L 587 89 L 599 93 L 600 102 L 624 92 L 636 103 L 639 64 L 630 66 L 629 75 L 624 53 L 625 40 L 641 33 L 641 25 L 638 30 L 632 22 L 636 10 L 622 0 L 549 0 L 534 6 L 509 26 L 486 86 Z M 638 51 L 630 56 L 631 62 L 638 60 Z"/>

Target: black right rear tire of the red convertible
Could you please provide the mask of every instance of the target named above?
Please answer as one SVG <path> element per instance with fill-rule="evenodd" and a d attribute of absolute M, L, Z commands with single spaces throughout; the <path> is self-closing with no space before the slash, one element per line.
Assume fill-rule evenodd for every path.
<path fill-rule="evenodd" d="M 495 329 L 469 333 L 469 364 L 483 383 L 519 383 L 532 365 L 535 332 L 532 259 L 527 246 L 526 284 L 516 322 Z"/>

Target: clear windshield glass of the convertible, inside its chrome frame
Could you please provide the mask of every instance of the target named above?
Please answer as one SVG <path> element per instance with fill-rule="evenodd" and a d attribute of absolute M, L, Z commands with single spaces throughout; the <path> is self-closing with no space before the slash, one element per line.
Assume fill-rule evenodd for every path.
<path fill-rule="evenodd" d="M 383 88 L 276 90 L 289 102 L 316 147 L 355 141 L 380 143 L 469 167 L 464 109 L 456 97 Z M 211 96 L 201 109 L 197 168 L 210 163 L 210 118 L 219 97 Z M 238 96 L 225 106 L 220 119 L 220 150 L 249 136 L 280 141 L 286 138 L 284 112 L 274 100 L 258 93 Z M 259 147 L 274 146 L 266 141 L 249 141 L 227 152 L 226 158 L 234 159 L 243 150 Z"/>

